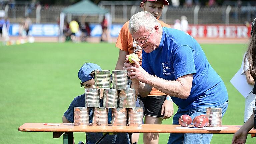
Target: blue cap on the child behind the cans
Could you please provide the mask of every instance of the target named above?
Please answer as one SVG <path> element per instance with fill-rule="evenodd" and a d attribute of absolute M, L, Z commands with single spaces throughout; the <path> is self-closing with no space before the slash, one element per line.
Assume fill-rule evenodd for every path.
<path fill-rule="evenodd" d="M 91 72 L 93 72 L 94 70 L 102 71 L 100 66 L 98 66 L 97 64 L 85 63 L 78 72 L 78 78 L 81 80 L 82 83 L 94 79 L 94 77 L 91 77 Z"/>

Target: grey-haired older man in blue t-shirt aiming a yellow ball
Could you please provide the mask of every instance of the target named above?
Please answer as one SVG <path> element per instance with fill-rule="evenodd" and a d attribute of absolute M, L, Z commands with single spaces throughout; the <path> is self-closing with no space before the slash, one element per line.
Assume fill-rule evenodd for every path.
<path fill-rule="evenodd" d="M 171 96 L 179 109 L 173 124 L 179 124 L 181 115 L 193 119 L 206 114 L 206 108 L 222 108 L 222 116 L 228 106 L 228 94 L 224 82 L 209 64 L 201 46 L 187 33 L 161 27 L 148 12 L 139 12 L 129 21 L 129 31 L 143 49 L 142 67 L 126 59 L 124 69 L 139 87 L 139 94 L 147 96 L 152 87 Z M 170 134 L 168 143 L 210 144 L 212 134 Z"/>

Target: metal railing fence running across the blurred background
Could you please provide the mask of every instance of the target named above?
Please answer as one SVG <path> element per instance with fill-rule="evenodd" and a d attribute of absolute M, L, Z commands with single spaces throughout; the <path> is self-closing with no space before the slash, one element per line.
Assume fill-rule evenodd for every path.
<path fill-rule="evenodd" d="M 112 23 L 125 23 L 130 17 L 142 11 L 140 1 L 101 1 L 99 6 L 110 11 Z M 66 5 L 1 5 L 0 10 L 6 12 L 11 23 L 23 22 L 24 17 L 31 18 L 33 23 L 57 23 Z M 187 17 L 190 24 L 244 24 L 256 17 L 256 6 L 215 6 L 215 7 L 172 7 L 166 6 L 160 20 L 173 24 L 182 15 Z M 66 20 L 67 20 L 66 16 Z M 77 17 L 80 22 L 100 23 L 100 16 Z"/>

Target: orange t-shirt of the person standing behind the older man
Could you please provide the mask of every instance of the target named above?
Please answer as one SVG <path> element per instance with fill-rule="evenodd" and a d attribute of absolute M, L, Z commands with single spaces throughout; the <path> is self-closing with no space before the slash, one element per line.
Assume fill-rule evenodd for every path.
<path fill-rule="evenodd" d="M 168 25 L 160 20 L 158 20 L 158 22 L 161 24 L 161 26 L 170 28 L 170 25 Z M 118 47 L 119 49 L 121 49 L 123 51 L 127 51 L 128 54 L 134 53 L 134 50 L 136 50 L 137 45 L 133 43 L 132 35 L 129 32 L 129 21 L 126 22 L 123 25 L 123 27 L 121 28 L 121 31 L 120 31 L 117 41 L 116 41 L 116 47 Z M 136 54 L 140 54 L 139 58 L 142 61 L 141 52 L 137 52 Z M 140 61 L 140 64 L 141 64 L 141 61 Z M 155 89 L 154 87 L 152 88 L 152 91 L 149 94 L 149 96 L 161 96 L 161 95 L 166 95 L 166 94 Z"/>

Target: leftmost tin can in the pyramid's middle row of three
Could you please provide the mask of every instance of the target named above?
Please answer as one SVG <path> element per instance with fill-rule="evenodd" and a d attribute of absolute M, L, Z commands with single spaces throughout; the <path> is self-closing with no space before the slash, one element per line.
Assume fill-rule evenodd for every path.
<path fill-rule="evenodd" d="M 99 89 L 85 89 L 85 107 L 99 107 L 100 93 Z"/>

